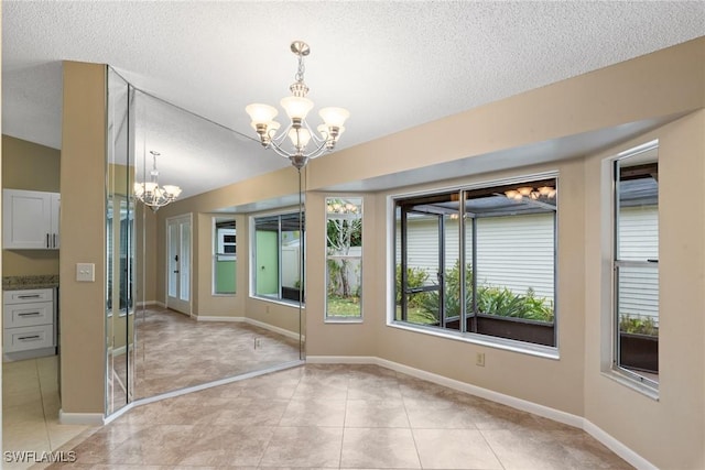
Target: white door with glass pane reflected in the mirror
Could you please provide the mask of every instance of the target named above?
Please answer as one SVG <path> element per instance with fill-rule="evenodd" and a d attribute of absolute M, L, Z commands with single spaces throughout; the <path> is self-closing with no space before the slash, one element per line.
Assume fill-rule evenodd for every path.
<path fill-rule="evenodd" d="M 166 306 L 191 315 L 191 215 L 166 220 Z"/>

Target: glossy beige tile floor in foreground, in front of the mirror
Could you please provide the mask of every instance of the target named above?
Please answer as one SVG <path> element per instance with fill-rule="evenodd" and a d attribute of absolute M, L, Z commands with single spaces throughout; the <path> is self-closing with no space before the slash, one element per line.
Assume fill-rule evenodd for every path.
<path fill-rule="evenodd" d="M 307 364 L 138 406 L 79 469 L 629 469 L 581 429 L 375 365 Z"/>

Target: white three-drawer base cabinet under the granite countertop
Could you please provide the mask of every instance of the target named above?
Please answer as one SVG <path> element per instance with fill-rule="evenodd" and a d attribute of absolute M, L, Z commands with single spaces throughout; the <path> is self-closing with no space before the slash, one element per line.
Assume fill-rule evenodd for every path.
<path fill-rule="evenodd" d="M 53 288 L 3 292 L 2 347 L 6 360 L 56 353 Z"/>

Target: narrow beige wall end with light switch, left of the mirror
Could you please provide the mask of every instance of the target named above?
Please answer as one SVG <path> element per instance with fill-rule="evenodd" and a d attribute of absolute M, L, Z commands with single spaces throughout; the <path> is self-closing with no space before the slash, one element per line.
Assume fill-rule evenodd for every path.
<path fill-rule="evenodd" d="M 102 414 L 106 374 L 105 65 L 64 62 L 62 127 L 62 411 Z M 77 282 L 76 263 L 95 263 L 96 282 Z"/>

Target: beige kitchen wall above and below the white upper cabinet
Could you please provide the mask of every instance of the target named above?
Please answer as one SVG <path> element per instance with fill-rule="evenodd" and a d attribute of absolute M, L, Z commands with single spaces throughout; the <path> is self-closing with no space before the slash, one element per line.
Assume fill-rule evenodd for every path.
<path fill-rule="evenodd" d="M 2 187 L 59 192 L 61 152 L 2 135 Z M 6 250 L 3 276 L 58 274 L 58 250 Z"/>

